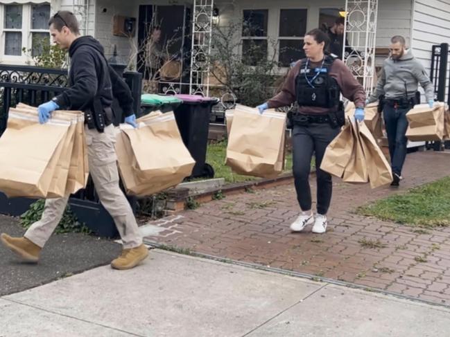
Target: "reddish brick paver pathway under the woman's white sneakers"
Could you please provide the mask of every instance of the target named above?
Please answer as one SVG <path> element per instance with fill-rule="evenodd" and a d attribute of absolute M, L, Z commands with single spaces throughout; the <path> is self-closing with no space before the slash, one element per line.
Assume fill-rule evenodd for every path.
<path fill-rule="evenodd" d="M 149 226 L 162 231 L 146 239 L 450 305 L 450 228 L 421 231 L 354 214 L 368 201 L 450 176 L 450 154 L 408 154 L 404 176 L 397 190 L 370 190 L 367 184 L 335 179 L 324 235 L 311 233 L 311 228 L 291 233 L 289 225 L 299 207 L 290 184 L 237 194 L 152 221 Z M 379 240 L 383 248 L 367 248 L 361 240 Z"/>

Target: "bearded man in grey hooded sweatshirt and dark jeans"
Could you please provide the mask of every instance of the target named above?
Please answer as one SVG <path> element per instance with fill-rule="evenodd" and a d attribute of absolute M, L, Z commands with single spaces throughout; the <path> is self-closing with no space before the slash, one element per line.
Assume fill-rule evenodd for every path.
<path fill-rule="evenodd" d="M 418 103 L 417 86 L 425 90 L 426 101 L 434 104 L 433 84 L 426 75 L 424 66 L 415 59 L 410 49 L 406 49 L 404 37 L 396 35 L 390 39 L 390 57 L 383 63 L 377 90 L 367 98 L 366 103 L 374 102 L 384 95 L 383 118 L 388 134 L 390 161 L 393 180 L 391 186 L 399 186 L 401 169 L 406 158 L 406 113 Z"/>

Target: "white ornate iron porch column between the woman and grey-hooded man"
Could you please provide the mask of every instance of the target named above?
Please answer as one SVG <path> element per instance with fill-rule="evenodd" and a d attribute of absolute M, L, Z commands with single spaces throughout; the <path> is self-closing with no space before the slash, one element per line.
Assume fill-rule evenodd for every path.
<path fill-rule="evenodd" d="M 345 64 L 368 94 L 372 93 L 375 72 L 375 38 L 377 34 L 378 0 L 345 1 Z M 345 43 L 348 40 L 348 45 Z M 352 48 L 347 53 L 345 49 Z"/>

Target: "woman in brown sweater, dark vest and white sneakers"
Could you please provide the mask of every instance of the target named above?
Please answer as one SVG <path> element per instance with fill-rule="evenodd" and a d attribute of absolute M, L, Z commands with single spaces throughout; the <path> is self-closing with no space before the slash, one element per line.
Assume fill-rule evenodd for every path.
<path fill-rule="evenodd" d="M 365 92 L 341 60 L 325 53 L 329 37 L 313 29 L 304 37 L 306 59 L 293 66 L 282 91 L 257 107 L 265 109 L 294 104 L 290 121 L 293 127 L 293 174 L 297 200 L 302 212 L 291 224 L 291 230 L 300 232 L 309 224 L 313 233 L 327 230 L 327 211 L 331 201 L 331 175 L 320 170 L 325 149 L 345 122 L 340 93 L 355 103 L 355 118 L 364 119 Z M 309 173 L 315 153 L 317 176 L 317 215 L 311 211 Z"/>

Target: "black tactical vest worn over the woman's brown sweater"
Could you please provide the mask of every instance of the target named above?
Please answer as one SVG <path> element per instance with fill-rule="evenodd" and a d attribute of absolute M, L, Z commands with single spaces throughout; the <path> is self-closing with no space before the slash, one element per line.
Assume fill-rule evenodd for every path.
<path fill-rule="evenodd" d="M 300 71 L 295 78 L 295 95 L 300 107 L 324 107 L 338 109 L 340 88 L 329 75 L 335 58 L 326 55 L 323 66 L 312 67 L 307 59 L 301 60 Z M 305 65 L 308 63 L 308 66 Z"/>

